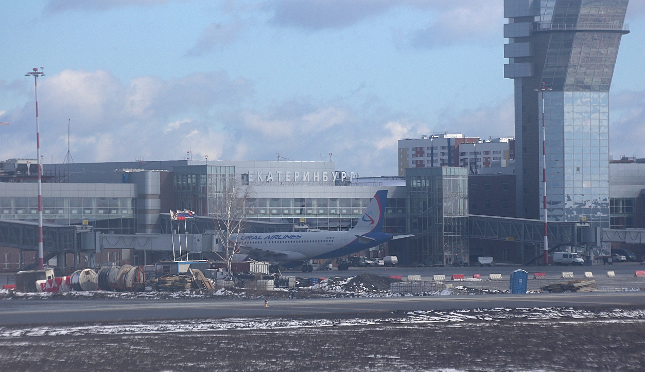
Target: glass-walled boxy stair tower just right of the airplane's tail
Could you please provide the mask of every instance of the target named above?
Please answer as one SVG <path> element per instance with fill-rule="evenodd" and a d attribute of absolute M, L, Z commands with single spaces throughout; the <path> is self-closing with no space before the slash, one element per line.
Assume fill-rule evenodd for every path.
<path fill-rule="evenodd" d="M 406 169 L 412 264 L 468 261 L 468 169 Z"/>

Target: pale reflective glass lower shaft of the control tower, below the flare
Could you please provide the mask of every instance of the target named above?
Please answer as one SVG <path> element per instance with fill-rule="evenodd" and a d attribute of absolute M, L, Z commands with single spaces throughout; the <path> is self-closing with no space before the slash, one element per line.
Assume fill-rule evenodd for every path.
<path fill-rule="evenodd" d="M 608 227 L 608 93 L 546 92 L 544 106 L 550 221 L 582 221 L 584 216 L 587 222 Z"/>

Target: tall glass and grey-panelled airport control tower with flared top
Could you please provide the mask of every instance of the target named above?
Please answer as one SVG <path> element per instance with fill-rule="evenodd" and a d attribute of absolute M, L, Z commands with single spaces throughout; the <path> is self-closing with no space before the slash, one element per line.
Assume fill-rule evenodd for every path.
<path fill-rule="evenodd" d="M 542 86 L 549 221 L 610 227 L 609 91 L 629 0 L 504 0 L 515 79 L 517 216 L 542 209 Z"/>

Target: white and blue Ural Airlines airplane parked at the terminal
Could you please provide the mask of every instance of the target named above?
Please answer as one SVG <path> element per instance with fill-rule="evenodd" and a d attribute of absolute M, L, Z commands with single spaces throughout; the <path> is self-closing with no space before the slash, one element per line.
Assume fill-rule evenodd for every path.
<path fill-rule="evenodd" d="M 348 231 L 305 231 L 231 234 L 241 253 L 253 259 L 284 264 L 286 267 L 305 261 L 303 272 L 312 272 L 310 259 L 333 259 L 367 250 L 395 239 L 413 235 L 393 236 L 382 232 L 383 215 L 388 191 L 377 191 L 355 227 Z"/>

